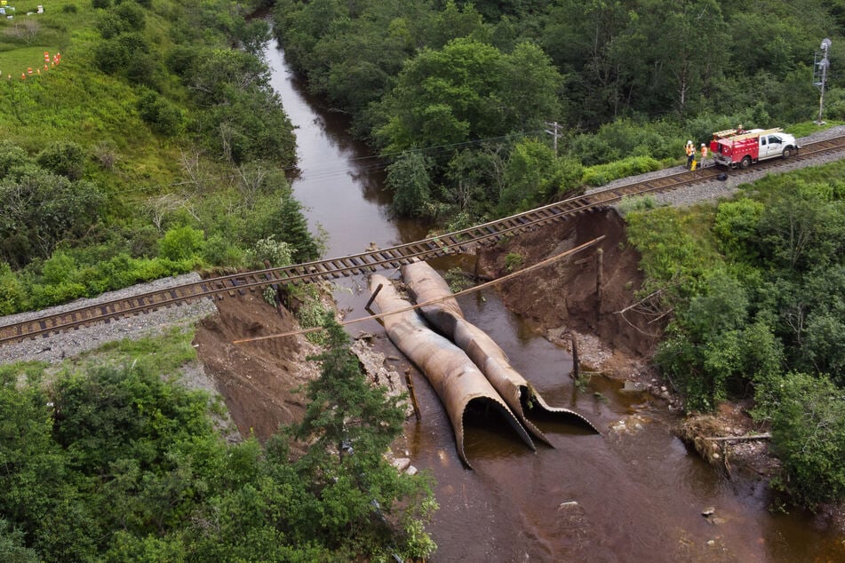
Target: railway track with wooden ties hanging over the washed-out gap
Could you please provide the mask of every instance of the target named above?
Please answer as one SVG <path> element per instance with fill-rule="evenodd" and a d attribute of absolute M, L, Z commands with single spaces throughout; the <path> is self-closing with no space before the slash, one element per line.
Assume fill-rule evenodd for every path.
<path fill-rule="evenodd" d="M 775 159 L 755 164 L 745 170 L 730 170 L 729 174 L 732 177 L 741 178 L 744 174 L 753 171 L 761 169 L 777 170 L 786 163 L 809 160 L 820 155 L 839 152 L 845 152 L 845 137 L 808 144 L 801 148 L 799 155 L 794 155 L 788 161 Z M 625 197 L 659 194 L 683 186 L 693 186 L 713 180 L 723 171 L 725 170 L 717 167 L 685 170 L 661 178 L 633 182 L 625 186 L 616 186 L 590 194 L 578 195 L 535 210 L 497 219 L 454 233 L 430 237 L 418 242 L 401 244 L 387 249 L 368 250 L 361 254 L 329 258 L 307 264 L 226 275 L 170 289 L 116 299 L 98 305 L 83 306 L 62 313 L 44 315 L 44 317 L 28 321 L 14 322 L 0 326 L 0 345 L 28 338 L 49 337 L 51 334 L 78 329 L 98 322 L 108 322 L 116 318 L 147 313 L 164 307 L 186 304 L 197 299 L 235 297 L 237 294 L 243 295 L 247 291 L 263 289 L 271 284 L 297 284 L 333 280 L 349 275 L 369 274 L 382 269 L 397 268 L 414 260 L 426 260 L 450 253 L 464 252 L 478 244 L 496 242 L 507 235 L 520 234 L 579 213 L 607 207 Z M 3 320 L 0 319 L 0 322 L 3 322 Z"/>

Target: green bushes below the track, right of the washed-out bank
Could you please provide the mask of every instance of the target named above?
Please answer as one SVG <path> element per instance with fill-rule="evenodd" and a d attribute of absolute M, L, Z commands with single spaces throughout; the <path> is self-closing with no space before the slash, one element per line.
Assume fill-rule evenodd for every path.
<path fill-rule="evenodd" d="M 783 464 L 772 485 L 811 508 L 845 500 L 843 171 L 769 176 L 718 205 L 626 216 L 642 294 L 671 312 L 661 372 L 690 412 L 753 398 Z"/>

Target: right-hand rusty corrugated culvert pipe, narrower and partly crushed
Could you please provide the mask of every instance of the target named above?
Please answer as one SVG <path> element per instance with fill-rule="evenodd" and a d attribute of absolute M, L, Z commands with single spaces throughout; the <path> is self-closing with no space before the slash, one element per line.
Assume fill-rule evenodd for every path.
<path fill-rule="evenodd" d="M 579 424 L 585 424 L 594 432 L 598 432 L 590 421 L 577 412 L 569 408 L 549 406 L 525 377 L 511 366 L 501 347 L 486 332 L 464 319 L 458 300 L 449 297 L 451 295 L 449 285 L 433 267 L 428 266 L 426 262 L 415 262 L 402 266 L 401 271 L 403 281 L 408 285 L 414 299 L 418 303 L 432 302 L 430 305 L 420 307 L 426 320 L 466 352 L 466 355 L 482 370 L 484 376 L 490 381 L 490 385 L 513 410 L 517 419 L 536 438 L 543 440 L 549 446 L 552 445 L 546 434 L 531 423 L 526 416 L 525 411 L 534 408 L 574 419 Z"/>

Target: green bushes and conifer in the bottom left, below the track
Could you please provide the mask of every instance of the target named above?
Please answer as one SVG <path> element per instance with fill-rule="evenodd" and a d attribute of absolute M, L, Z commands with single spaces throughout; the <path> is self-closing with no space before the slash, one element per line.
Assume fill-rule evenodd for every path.
<path fill-rule="evenodd" d="M 111 345 L 60 373 L 0 367 L 0 559 L 427 556 L 431 483 L 383 456 L 404 411 L 327 323 L 305 418 L 264 444 L 226 440 L 225 406 L 176 381 L 196 359 L 193 330 Z"/>

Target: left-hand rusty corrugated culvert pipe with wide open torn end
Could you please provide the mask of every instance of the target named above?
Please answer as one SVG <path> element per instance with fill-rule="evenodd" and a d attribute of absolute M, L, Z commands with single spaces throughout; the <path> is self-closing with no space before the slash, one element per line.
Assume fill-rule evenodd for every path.
<path fill-rule="evenodd" d="M 471 405 L 498 411 L 519 437 L 534 449 L 528 432 L 466 353 L 429 329 L 416 311 L 408 310 L 411 303 L 399 296 L 387 278 L 373 274 L 371 291 L 374 292 L 379 285 L 382 288 L 375 297 L 375 303 L 381 313 L 396 312 L 382 317 L 387 336 L 423 372 L 442 401 L 455 433 L 461 461 L 472 469 L 464 450 L 464 415 Z"/>

